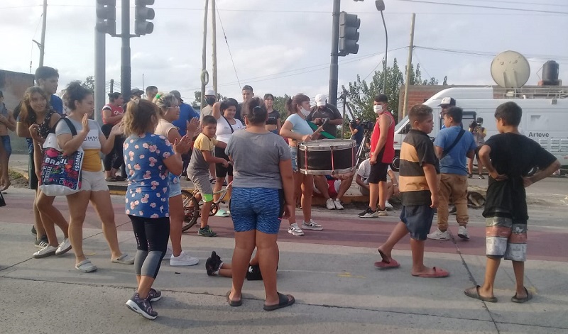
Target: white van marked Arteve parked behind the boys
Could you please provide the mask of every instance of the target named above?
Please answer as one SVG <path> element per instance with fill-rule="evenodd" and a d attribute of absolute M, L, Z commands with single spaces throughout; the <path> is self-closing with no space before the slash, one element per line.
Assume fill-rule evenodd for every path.
<path fill-rule="evenodd" d="M 562 166 L 568 165 L 568 87 L 523 87 L 503 89 L 501 87 L 454 87 L 444 89 L 432 96 L 424 104 L 434 109 L 434 130 L 432 140 L 442 128 L 438 106 L 444 97 L 456 99 L 456 104 L 464 109 L 464 128 L 476 118 L 484 119 L 487 137 L 497 134 L 495 109 L 500 104 L 513 101 L 523 108 L 523 118 L 519 130 L 540 146 L 551 152 Z M 391 167 L 398 171 L 400 165 L 400 145 L 410 130 L 408 116 L 395 127 L 395 158 Z"/>

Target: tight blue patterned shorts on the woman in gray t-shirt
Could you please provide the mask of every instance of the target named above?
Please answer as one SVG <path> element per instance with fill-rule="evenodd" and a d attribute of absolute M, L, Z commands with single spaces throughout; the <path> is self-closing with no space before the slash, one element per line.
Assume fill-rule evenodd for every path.
<path fill-rule="evenodd" d="M 229 208 L 235 232 L 258 230 L 278 234 L 284 213 L 284 192 L 274 188 L 233 188 Z"/>

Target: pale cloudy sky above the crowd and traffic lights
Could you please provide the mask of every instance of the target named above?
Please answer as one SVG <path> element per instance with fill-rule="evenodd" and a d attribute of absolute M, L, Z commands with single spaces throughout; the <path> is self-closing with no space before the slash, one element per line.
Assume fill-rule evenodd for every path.
<path fill-rule="evenodd" d="M 118 2 L 117 29 L 120 23 Z M 185 101 L 200 90 L 204 0 L 155 0 L 153 33 L 131 38 L 131 87 L 177 89 Z M 209 1 L 210 2 L 210 1 Z M 217 0 L 219 93 L 241 100 L 249 84 L 256 95 L 327 94 L 332 0 Z M 0 0 L 0 69 L 35 71 L 39 62 L 43 0 Z M 385 0 L 388 65 L 404 68 L 416 13 L 413 63 L 422 77 L 448 84 L 491 85 L 491 61 L 515 50 L 530 63 L 536 84 L 547 60 L 559 63 L 568 84 L 566 0 Z M 131 0 L 134 6 L 134 0 Z M 385 31 L 375 1 L 342 1 L 342 10 L 361 18 L 359 53 L 339 57 L 339 87 L 370 79 L 381 69 Z M 503 9 L 484 8 L 499 7 Z M 209 11 L 211 6 L 209 5 Z M 520 10 L 507 10 L 514 8 Z M 209 13 L 210 15 L 210 13 Z M 60 72 L 60 87 L 94 74 L 94 0 L 48 0 L 44 65 Z M 131 27 L 133 26 L 131 9 Z M 207 70 L 212 78 L 209 16 Z M 132 28 L 131 28 L 132 29 Z M 118 30 L 117 33 L 120 31 Z M 225 36 L 226 42 L 225 43 Z M 106 82 L 120 82 L 120 38 L 107 35 Z M 207 89 L 212 88 L 212 79 Z"/>

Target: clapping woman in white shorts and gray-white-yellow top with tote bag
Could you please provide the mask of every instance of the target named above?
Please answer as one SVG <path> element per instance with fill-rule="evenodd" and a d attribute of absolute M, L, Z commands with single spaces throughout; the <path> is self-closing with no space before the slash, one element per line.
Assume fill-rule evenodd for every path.
<path fill-rule="evenodd" d="M 112 207 L 109 187 L 102 172 L 99 152 L 109 154 L 114 146 L 114 139 L 121 135 L 120 124 L 116 124 L 105 138 L 99 123 L 90 120 L 93 113 L 94 99 L 92 93 L 81 86 L 79 82 L 72 82 L 67 86 L 69 95 L 69 120 L 75 127 L 77 135 L 72 135 L 72 129 L 65 122 L 58 123 L 55 135 L 58 144 L 65 154 L 72 154 L 82 147 L 84 150 L 81 167 L 81 189 L 75 194 L 67 195 L 69 204 L 69 238 L 75 251 L 75 268 L 81 272 L 94 272 L 97 267 L 91 263 L 83 252 L 83 222 L 87 213 L 87 206 L 91 202 L 94 211 L 102 222 L 104 238 L 111 249 L 111 261 L 123 265 L 132 265 L 134 259 L 122 253 L 119 247 L 119 238 L 116 234 L 114 211 Z"/>

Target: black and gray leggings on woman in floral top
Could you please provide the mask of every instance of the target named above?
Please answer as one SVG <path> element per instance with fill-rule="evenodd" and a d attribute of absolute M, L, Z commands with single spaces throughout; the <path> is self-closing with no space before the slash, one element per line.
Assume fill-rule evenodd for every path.
<path fill-rule="evenodd" d="M 155 279 L 170 238 L 170 218 L 146 218 L 129 215 L 136 237 L 134 271 L 138 276 Z"/>

